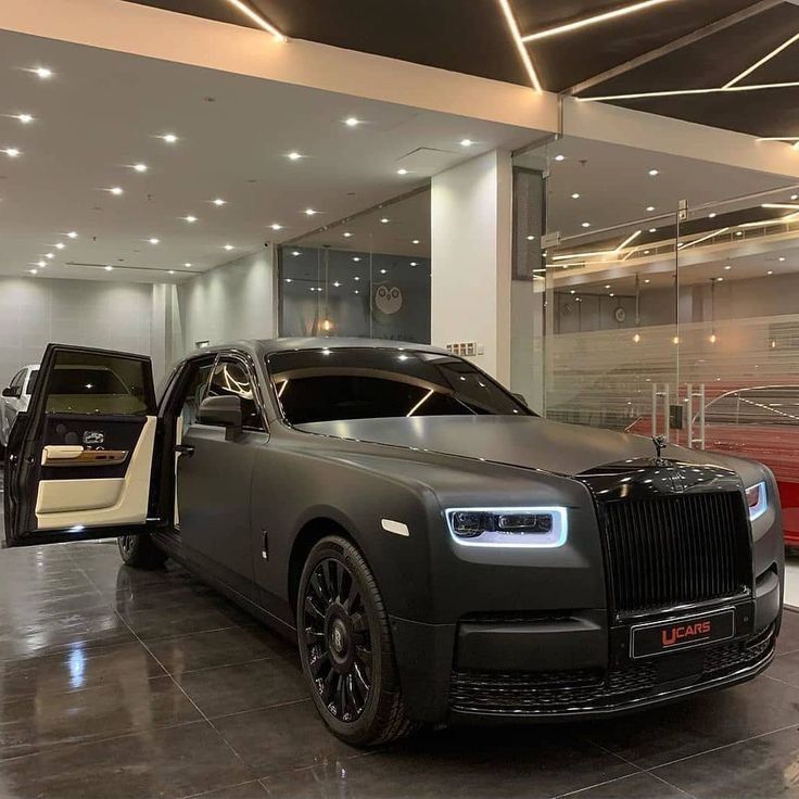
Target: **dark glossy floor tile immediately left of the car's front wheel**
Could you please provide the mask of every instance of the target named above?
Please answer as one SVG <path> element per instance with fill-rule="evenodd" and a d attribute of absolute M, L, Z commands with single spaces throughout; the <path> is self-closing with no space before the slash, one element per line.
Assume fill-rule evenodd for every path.
<path fill-rule="evenodd" d="M 210 719 L 308 697 L 299 659 L 255 660 L 189 672 L 176 678 Z"/>

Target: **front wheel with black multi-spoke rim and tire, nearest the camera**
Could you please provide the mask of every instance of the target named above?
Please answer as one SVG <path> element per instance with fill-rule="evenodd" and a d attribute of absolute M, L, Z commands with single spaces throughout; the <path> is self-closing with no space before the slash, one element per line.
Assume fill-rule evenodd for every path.
<path fill-rule="evenodd" d="M 330 731 L 360 747 L 410 733 L 416 724 L 405 714 L 389 618 L 358 549 L 340 536 L 319 541 L 296 605 L 303 674 Z"/>

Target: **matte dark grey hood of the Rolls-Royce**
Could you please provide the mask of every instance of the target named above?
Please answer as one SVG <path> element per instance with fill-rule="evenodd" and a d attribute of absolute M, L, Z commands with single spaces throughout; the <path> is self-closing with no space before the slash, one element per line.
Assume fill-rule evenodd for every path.
<path fill-rule="evenodd" d="M 620 460 L 654 458 L 641 435 L 525 416 L 428 416 L 297 424 L 308 433 L 478 458 L 558 474 L 581 474 Z M 669 447 L 663 457 L 719 462 L 707 453 Z"/>

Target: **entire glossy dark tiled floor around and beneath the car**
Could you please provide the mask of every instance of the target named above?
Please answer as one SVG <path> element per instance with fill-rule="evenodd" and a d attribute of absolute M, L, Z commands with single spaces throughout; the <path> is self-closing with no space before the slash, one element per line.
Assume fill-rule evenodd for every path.
<path fill-rule="evenodd" d="M 428 732 L 363 753 L 290 647 L 113 542 L 0 550 L 0 797 L 799 797 L 799 614 L 752 683 L 614 722 Z"/>

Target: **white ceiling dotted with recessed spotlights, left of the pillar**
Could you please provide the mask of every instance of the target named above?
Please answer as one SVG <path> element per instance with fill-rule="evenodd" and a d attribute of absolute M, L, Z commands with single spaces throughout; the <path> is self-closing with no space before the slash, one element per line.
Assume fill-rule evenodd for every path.
<path fill-rule="evenodd" d="M 542 135 L 9 31 L 0 84 L 4 275 L 179 280 Z"/>

